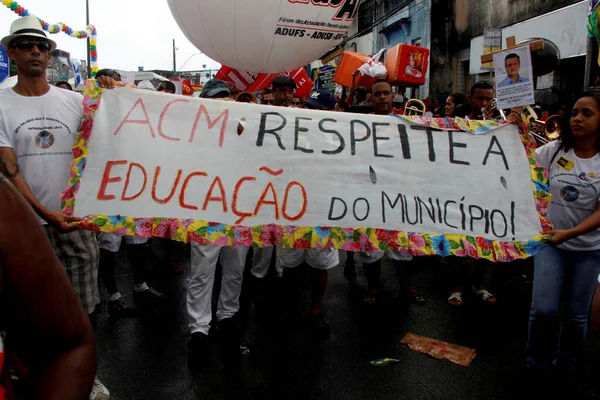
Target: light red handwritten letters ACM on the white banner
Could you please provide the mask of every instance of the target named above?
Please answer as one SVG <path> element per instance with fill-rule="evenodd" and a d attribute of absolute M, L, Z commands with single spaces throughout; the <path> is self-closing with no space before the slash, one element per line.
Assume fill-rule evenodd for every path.
<path fill-rule="evenodd" d="M 170 140 L 170 141 L 174 141 L 174 142 L 178 142 L 181 140 L 181 138 L 169 136 L 168 132 L 164 131 L 163 124 L 164 124 L 165 118 L 167 117 L 167 114 L 169 112 L 173 112 L 173 109 L 176 108 L 178 105 L 181 106 L 181 104 L 186 104 L 189 102 L 190 101 L 186 100 L 186 99 L 176 99 L 176 100 L 168 102 L 164 106 L 163 110 L 160 113 L 160 117 L 158 119 L 158 126 L 156 127 L 157 129 L 154 129 L 154 127 L 152 126 L 152 123 L 150 122 L 150 118 L 148 117 L 148 112 L 146 111 L 146 105 L 144 104 L 144 100 L 142 98 L 139 98 L 133 104 L 133 106 L 131 107 L 131 109 L 129 110 L 129 112 L 127 113 L 125 118 L 123 119 L 123 121 L 121 121 L 121 123 L 115 130 L 114 136 L 117 136 L 119 134 L 119 132 L 121 132 L 123 127 L 127 124 L 147 125 L 148 129 L 150 131 L 150 135 L 153 138 L 156 138 L 156 133 L 158 132 L 158 136 L 160 136 L 161 138 Z M 130 119 L 131 114 L 133 114 L 133 112 L 135 110 L 137 110 L 138 108 L 142 111 L 144 118 L 143 119 Z M 227 129 L 227 123 L 229 121 L 229 109 L 226 109 L 218 116 L 215 116 L 215 115 L 211 116 L 208 113 L 208 110 L 206 109 L 204 104 L 200 104 L 200 106 L 198 107 L 198 111 L 196 112 L 196 116 L 194 118 L 194 123 L 191 127 L 190 133 L 189 133 L 189 135 L 186 136 L 189 143 L 192 143 L 194 141 L 194 137 L 196 136 L 196 131 L 198 130 L 198 125 L 200 124 L 201 120 L 206 121 L 206 124 L 207 124 L 209 130 L 215 128 L 219 122 L 221 123 L 220 133 L 219 133 L 219 147 L 223 147 L 223 141 L 225 139 L 225 131 Z"/>

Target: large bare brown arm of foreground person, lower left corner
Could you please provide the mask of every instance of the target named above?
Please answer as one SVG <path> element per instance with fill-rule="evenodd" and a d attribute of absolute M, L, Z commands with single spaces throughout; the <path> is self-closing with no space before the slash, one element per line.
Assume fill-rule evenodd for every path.
<path fill-rule="evenodd" d="M 29 397 L 88 399 L 96 373 L 89 317 L 39 220 L 2 177 L 0 266 L 7 343 L 30 370 Z"/>

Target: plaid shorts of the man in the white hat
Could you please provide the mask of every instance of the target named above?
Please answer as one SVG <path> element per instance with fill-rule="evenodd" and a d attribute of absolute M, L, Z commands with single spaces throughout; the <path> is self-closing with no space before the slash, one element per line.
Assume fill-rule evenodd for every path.
<path fill-rule="evenodd" d="M 88 314 L 93 313 L 100 302 L 98 292 L 100 250 L 96 234 L 84 230 L 60 233 L 48 225 L 44 225 L 44 228 L 71 285 L 81 300 L 81 305 Z"/>

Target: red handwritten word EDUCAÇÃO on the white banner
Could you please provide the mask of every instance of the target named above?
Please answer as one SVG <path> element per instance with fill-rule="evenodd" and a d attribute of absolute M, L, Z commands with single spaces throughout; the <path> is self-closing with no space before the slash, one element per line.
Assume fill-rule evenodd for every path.
<path fill-rule="evenodd" d="M 126 172 L 122 174 L 116 173 L 113 168 L 116 166 L 127 166 Z M 143 184 L 141 189 L 137 193 L 130 193 L 131 176 L 134 170 L 137 170 L 137 174 L 141 173 L 143 176 Z M 216 203 L 221 207 L 223 213 L 233 213 L 238 217 L 235 221 L 236 224 L 242 223 L 246 218 L 252 218 L 259 215 L 263 208 L 268 206 L 272 207 L 273 217 L 275 220 L 279 220 L 283 217 L 287 221 L 298 221 L 306 213 L 306 207 L 308 204 L 308 197 L 306 189 L 300 182 L 291 181 L 288 182 L 285 191 L 283 193 L 278 192 L 272 182 L 265 185 L 264 188 L 251 188 L 252 182 L 256 182 L 255 176 L 243 176 L 235 183 L 233 189 L 228 192 L 223 185 L 221 177 L 218 175 L 214 178 L 209 178 L 207 172 L 193 171 L 187 174 L 183 173 L 183 170 L 179 169 L 172 178 L 172 182 L 169 181 L 170 187 L 168 194 L 165 193 L 159 195 L 157 193 L 157 187 L 159 180 L 161 179 L 160 166 L 156 166 L 154 170 L 148 170 L 141 164 L 135 162 L 129 162 L 127 160 L 113 160 L 108 161 L 102 174 L 102 181 L 98 190 L 97 199 L 100 201 L 133 201 L 138 199 L 146 190 L 150 191 L 152 201 L 157 204 L 172 204 L 178 202 L 179 207 L 187 210 L 202 210 L 206 211 L 211 203 Z M 259 172 L 265 172 L 271 176 L 280 176 L 283 174 L 283 170 L 273 171 L 268 167 L 261 167 Z M 164 177 L 162 179 L 165 179 Z M 208 186 L 208 190 L 204 193 L 204 200 L 202 204 L 190 204 L 186 200 L 188 189 L 190 189 L 191 183 L 199 179 L 206 179 L 205 183 L 211 182 Z M 150 180 L 152 181 L 150 183 Z M 137 185 L 136 185 L 137 186 Z M 161 185 L 165 187 L 164 185 Z M 203 187 L 205 187 L 203 185 Z M 197 186 L 195 186 L 197 189 Z M 262 189 L 262 190 L 261 190 Z M 194 191 L 197 193 L 197 190 Z M 240 210 L 239 200 L 240 198 L 249 198 L 252 193 L 261 193 L 256 201 L 256 206 L 252 210 Z M 290 204 L 300 204 L 300 211 L 291 215 L 288 212 Z M 268 211 L 266 211 L 268 212 Z"/>

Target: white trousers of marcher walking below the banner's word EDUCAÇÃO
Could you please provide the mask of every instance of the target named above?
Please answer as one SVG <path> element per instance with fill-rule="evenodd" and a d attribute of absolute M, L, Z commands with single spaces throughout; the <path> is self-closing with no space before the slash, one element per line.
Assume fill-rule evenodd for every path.
<path fill-rule="evenodd" d="M 240 292 L 248 247 L 202 246 L 192 243 L 192 265 L 187 291 L 191 333 L 202 332 L 208 335 L 212 319 L 212 291 L 219 254 L 221 254 L 223 277 L 217 306 L 217 321 L 233 317 L 240 308 Z"/>

